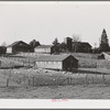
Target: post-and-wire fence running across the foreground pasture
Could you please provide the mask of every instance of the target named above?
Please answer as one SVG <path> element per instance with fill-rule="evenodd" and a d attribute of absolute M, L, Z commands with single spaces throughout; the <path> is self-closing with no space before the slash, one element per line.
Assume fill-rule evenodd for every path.
<path fill-rule="evenodd" d="M 8 75 L 8 74 L 7 74 Z M 12 86 L 10 81 L 18 84 L 20 87 L 36 87 L 36 86 L 66 86 L 66 85 L 110 85 L 110 75 L 105 74 L 70 74 L 70 75 L 9 75 L 6 86 Z"/>

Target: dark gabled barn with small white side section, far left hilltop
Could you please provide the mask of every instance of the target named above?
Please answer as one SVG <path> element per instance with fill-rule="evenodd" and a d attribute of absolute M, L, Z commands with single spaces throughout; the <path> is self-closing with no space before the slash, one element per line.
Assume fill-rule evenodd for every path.
<path fill-rule="evenodd" d="M 20 52 L 32 52 L 32 47 L 22 41 L 16 41 L 7 47 L 7 53 Z"/>

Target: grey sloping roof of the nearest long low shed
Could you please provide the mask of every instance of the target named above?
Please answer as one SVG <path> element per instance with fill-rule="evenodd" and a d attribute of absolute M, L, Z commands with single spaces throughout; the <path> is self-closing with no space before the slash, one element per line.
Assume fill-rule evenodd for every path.
<path fill-rule="evenodd" d="M 69 56 L 73 56 L 73 55 L 42 55 L 36 58 L 36 62 L 62 62 Z M 78 59 L 76 59 L 76 61 L 78 61 Z"/>

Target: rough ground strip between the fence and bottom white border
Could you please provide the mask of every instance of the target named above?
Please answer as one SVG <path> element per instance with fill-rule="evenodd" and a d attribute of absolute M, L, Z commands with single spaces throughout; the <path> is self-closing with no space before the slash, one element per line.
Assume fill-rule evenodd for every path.
<path fill-rule="evenodd" d="M 29 88 L 0 88 L 4 99 L 110 99 L 110 86 L 78 85 Z"/>

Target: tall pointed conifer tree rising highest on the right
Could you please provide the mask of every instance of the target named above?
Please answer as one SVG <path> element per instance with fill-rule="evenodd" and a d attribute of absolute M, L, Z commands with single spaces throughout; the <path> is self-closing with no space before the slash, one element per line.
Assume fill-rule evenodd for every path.
<path fill-rule="evenodd" d="M 106 30 L 103 29 L 101 38 L 100 38 L 100 46 L 99 46 L 100 52 L 108 52 L 110 51 L 109 48 L 109 40 Z"/>

